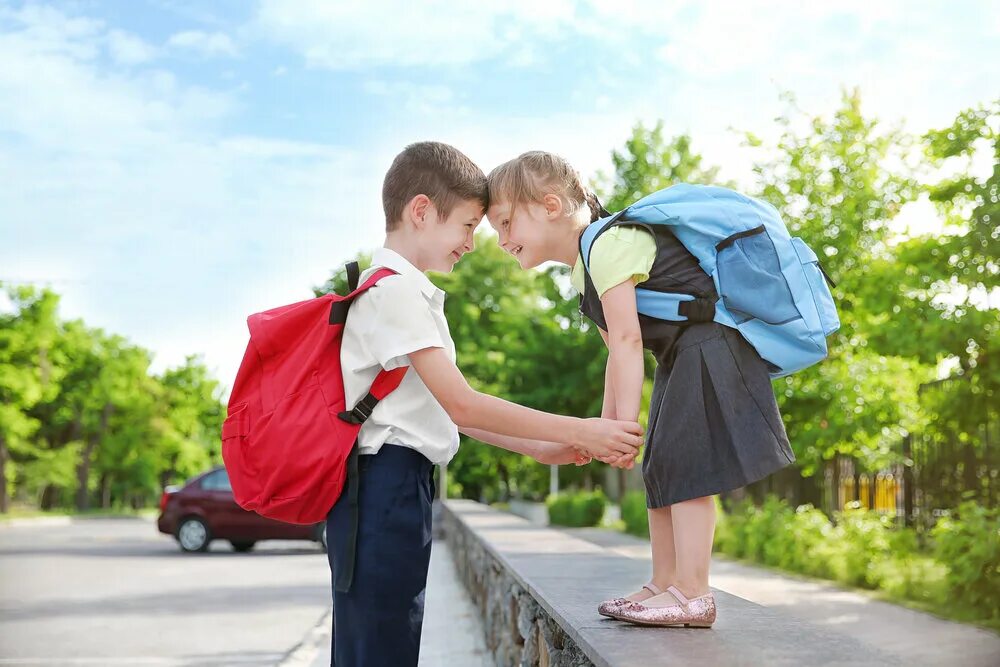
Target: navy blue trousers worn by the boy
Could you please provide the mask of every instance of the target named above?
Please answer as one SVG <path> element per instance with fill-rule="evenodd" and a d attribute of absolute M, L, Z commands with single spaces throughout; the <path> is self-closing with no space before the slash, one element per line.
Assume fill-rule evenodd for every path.
<path fill-rule="evenodd" d="M 378 454 L 359 456 L 357 468 L 356 541 L 349 488 L 326 520 L 334 589 L 330 664 L 416 667 L 431 556 L 433 465 L 409 447 L 386 444 Z M 349 588 L 338 590 L 345 580 Z"/>

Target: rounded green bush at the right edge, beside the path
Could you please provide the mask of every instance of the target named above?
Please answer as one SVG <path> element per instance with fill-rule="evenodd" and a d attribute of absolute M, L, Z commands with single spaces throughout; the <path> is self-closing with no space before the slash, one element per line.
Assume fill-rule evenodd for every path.
<path fill-rule="evenodd" d="M 948 564 L 956 601 L 990 620 L 1000 619 L 1000 514 L 971 502 L 938 521 L 934 555 Z"/>

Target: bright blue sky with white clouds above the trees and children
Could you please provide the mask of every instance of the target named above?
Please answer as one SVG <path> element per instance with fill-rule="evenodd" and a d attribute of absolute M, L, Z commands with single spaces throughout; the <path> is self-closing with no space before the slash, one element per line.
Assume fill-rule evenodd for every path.
<path fill-rule="evenodd" d="M 748 185 L 782 92 L 923 132 L 997 63 L 990 1 L 0 0 L 0 281 L 228 387 L 247 315 L 382 243 L 409 143 L 589 178 L 662 120 Z"/>

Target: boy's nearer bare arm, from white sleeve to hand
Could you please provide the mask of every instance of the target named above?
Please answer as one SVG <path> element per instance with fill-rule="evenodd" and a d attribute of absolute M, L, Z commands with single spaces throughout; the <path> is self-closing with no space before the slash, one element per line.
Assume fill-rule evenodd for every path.
<path fill-rule="evenodd" d="M 526 408 L 472 389 L 445 351 L 429 347 L 410 353 L 410 364 L 456 425 L 518 438 L 557 434 L 588 454 L 634 454 L 642 445 L 638 423 L 577 419 Z"/>

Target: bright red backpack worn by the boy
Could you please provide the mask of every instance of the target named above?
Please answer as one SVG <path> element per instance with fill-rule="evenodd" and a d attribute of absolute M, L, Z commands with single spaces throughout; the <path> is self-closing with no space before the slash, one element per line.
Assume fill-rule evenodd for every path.
<path fill-rule="evenodd" d="M 340 366 L 347 312 L 390 275 L 379 269 L 358 287 L 352 262 L 346 296 L 327 294 L 247 318 L 250 342 L 222 424 L 222 458 L 243 509 L 312 524 L 337 502 L 361 425 L 406 373 L 406 367 L 380 372 L 347 411 Z"/>

